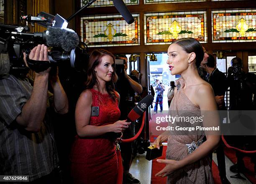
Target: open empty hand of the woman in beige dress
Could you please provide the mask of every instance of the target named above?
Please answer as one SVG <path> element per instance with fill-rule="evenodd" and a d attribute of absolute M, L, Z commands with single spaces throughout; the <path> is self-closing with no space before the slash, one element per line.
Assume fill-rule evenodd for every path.
<path fill-rule="evenodd" d="M 182 168 L 181 164 L 179 164 L 179 161 L 177 160 L 157 159 L 156 161 L 159 163 L 166 164 L 164 169 L 162 169 L 155 175 L 156 177 L 166 177 L 175 170 Z"/>

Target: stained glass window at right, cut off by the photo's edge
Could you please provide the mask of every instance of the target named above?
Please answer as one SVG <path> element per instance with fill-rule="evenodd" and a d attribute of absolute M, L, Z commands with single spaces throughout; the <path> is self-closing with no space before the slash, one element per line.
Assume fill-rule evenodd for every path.
<path fill-rule="evenodd" d="M 212 42 L 256 41 L 256 10 L 212 11 Z"/>

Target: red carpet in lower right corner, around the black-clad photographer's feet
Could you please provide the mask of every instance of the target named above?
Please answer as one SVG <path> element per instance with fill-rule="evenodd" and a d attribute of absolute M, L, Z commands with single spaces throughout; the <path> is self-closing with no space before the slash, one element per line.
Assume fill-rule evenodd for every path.
<path fill-rule="evenodd" d="M 231 160 L 231 162 L 236 163 L 236 152 L 233 149 L 228 149 L 227 147 L 224 147 L 224 152 L 225 152 L 225 155 Z M 250 182 L 256 183 L 256 179 L 254 177 L 254 168 L 253 168 L 254 164 L 251 162 L 251 158 L 244 157 L 243 161 L 247 168 L 247 172 L 243 174 L 250 180 Z"/>

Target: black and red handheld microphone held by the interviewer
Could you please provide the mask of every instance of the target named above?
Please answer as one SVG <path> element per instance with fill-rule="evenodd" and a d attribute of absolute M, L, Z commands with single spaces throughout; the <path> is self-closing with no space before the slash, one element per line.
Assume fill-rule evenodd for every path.
<path fill-rule="evenodd" d="M 151 94 L 148 94 L 131 110 L 131 112 L 128 114 L 128 118 L 131 119 L 131 121 L 138 119 L 152 104 L 153 100 L 154 97 Z"/>

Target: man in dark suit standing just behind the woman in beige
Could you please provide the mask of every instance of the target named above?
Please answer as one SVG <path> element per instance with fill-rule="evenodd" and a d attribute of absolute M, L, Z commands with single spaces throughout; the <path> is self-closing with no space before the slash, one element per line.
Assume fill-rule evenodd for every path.
<path fill-rule="evenodd" d="M 225 92 L 228 89 L 227 78 L 223 72 L 220 72 L 218 68 L 215 67 L 215 58 L 209 54 L 207 58 L 207 63 L 204 64 L 204 68 L 207 71 L 207 81 L 212 85 L 212 89 L 215 94 L 216 102 L 218 104 L 218 110 L 226 110 L 224 96 Z M 223 122 L 223 113 L 220 114 L 220 122 Z M 216 150 L 217 160 L 218 160 L 218 169 L 220 172 L 220 179 L 223 184 L 230 183 L 226 177 L 226 169 L 225 169 L 225 154 L 223 150 L 223 145 L 220 146 Z"/>

